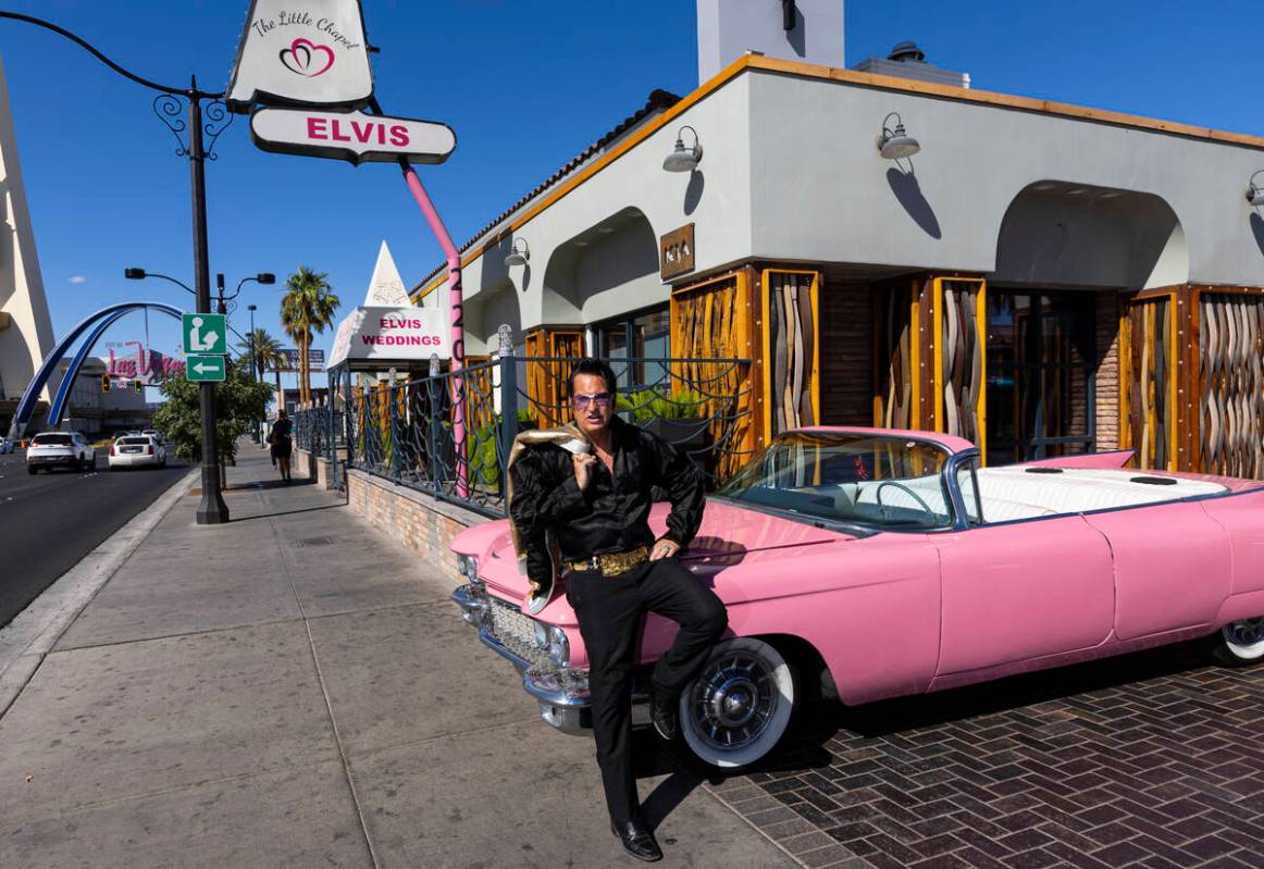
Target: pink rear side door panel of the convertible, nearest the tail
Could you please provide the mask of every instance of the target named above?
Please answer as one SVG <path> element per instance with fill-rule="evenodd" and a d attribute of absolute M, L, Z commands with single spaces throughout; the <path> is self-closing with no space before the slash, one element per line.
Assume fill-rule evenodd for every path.
<path fill-rule="evenodd" d="M 1115 634 L 1135 639 L 1210 624 L 1230 595 L 1229 532 L 1202 504 L 1086 517 L 1115 553 Z"/>

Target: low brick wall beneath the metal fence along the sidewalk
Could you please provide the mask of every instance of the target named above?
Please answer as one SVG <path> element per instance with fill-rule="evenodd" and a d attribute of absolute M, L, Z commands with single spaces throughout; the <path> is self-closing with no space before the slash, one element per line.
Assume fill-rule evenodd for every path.
<path fill-rule="evenodd" d="M 307 453 L 296 453 L 295 471 L 306 474 Z M 316 460 L 316 471 L 317 482 L 327 486 L 329 462 Z M 454 537 L 470 525 L 488 522 L 487 517 L 355 469 L 346 471 L 346 504 L 354 514 L 442 571 L 453 587 L 464 585 L 465 578 L 456 572 L 456 556 L 449 547 Z"/>

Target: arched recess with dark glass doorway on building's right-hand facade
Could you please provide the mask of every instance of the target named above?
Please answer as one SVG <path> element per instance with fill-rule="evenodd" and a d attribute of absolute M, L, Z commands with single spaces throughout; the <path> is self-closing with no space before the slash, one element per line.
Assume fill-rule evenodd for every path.
<path fill-rule="evenodd" d="M 1173 208 L 1153 193 L 1035 182 L 1010 203 L 987 278 L 988 461 L 1121 445 L 1119 306 L 1189 279 Z"/>

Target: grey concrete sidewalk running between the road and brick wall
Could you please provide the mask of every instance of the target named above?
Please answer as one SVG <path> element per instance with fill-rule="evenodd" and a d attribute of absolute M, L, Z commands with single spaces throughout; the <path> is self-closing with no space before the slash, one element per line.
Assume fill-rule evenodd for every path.
<path fill-rule="evenodd" d="M 0 719 L 0 864 L 636 864 L 592 741 L 538 721 L 449 580 L 254 447 L 229 480 L 233 522 L 179 499 Z M 796 865 L 638 746 L 662 865 Z"/>

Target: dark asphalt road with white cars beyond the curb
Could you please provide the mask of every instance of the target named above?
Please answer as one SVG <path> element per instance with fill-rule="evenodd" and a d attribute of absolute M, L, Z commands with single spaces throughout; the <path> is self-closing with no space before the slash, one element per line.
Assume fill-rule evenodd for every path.
<path fill-rule="evenodd" d="M 30 476 L 24 452 L 0 456 L 0 625 L 188 470 L 168 460 L 162 470 L 107 471 L 101 448 L 96 466 Z"/>

